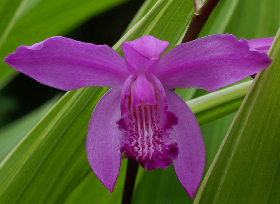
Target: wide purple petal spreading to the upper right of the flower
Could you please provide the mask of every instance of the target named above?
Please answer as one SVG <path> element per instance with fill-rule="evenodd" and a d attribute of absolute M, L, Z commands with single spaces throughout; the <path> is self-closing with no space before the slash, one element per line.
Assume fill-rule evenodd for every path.
<path fill-rule="evenodd" d="M 263 70 L 271 61 L 264 52 L 250 51 L 244 38 L 217 34 L 177 45 L 147 72 L 164 88 L 215 91 Z"/>

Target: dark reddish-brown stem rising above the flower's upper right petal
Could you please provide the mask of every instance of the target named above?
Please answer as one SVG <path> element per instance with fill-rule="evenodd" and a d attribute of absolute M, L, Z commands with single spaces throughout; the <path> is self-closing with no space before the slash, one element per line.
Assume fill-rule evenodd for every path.
<path fill-rule="evenodd" d="M 193 41 L 198 37 L 204 24 L 208 20 L 210 14 L 212 13 L 213 9 L 217 6 L 219 1 L 220 0 L 208 0 L 204 3 L 204 5 L 199 10 L 194 12 L 192 20 L 187 29 L 187 32 L 181 43 L 187 43 L 189 41 Z"/>

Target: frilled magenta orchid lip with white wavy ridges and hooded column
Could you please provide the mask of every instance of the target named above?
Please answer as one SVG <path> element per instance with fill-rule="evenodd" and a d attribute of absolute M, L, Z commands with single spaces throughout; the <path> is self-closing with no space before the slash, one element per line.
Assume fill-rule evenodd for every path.
<path fill-rule="evenodd" d="M 155 77 L 138 74 L 131 81 L 124 101 L 127 114 L 117 122 L 123 129 L 120 152 L 138 161 L 145 170 L 166 168 L 178 156 L 177 143 L 169 131 L 177 118 L 166 111 L 166 95 Z"/>

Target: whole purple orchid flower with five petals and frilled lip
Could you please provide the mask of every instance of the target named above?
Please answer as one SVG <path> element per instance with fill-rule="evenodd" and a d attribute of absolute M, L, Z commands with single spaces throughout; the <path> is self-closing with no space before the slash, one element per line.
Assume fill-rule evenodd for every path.
<path fill-rule="evenodd" d="M 51 87 L 112 87 L 91 116 L 86 150 L 102 184 L 113 191 L 121 152 L 145 170 L 166 168 L 193 198 L 205 165 L 205 149 L 192 111 L 172 88 L 215 91 L 271 63 L 265 52 L 230 34 L 199 38 L 172 48 L 143 36 L 122 44 L 124 58 L 107 45 L 64 37 L 21 45 L 5 62 Z"/>

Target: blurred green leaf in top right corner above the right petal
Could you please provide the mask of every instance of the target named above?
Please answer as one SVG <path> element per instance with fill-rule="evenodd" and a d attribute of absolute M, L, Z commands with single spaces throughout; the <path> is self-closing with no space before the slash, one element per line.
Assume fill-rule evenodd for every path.
<path fill-rule="evenodd" d="M 275 36 L 280 26 L 279 10 L 278 0 L 239 1 L 225 32 L 246 39 Z"/>

